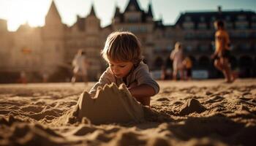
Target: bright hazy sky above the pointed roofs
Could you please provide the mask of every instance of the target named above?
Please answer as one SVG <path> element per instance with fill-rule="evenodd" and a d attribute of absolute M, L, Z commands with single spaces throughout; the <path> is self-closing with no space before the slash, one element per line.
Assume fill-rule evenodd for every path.
<path fill-rule="evenodd" d="M 43 26 L 45 15 L 52 0 L 0 0 L 0 19 L 8 20 L 8 29 L 15 31 L 22 23 L 30 26 Z M 111 23 L 115 6 L 124 11 L 129 0 L 54 0 L 62 18 L 62 22 L 72 26 L 76 15 L 85 17 L 89 14 L 91 4 L 101 26 Z M 213 11 L 217 6 L 222 10 L 252 10 L 256 11 L 255 0 L 138 0 L 140 7 L 148 10 L 148 2 L 152 2 L 154 19 L 162 17 L 165 24 L 176 22 L 181 12 L 186 11 Z"/>

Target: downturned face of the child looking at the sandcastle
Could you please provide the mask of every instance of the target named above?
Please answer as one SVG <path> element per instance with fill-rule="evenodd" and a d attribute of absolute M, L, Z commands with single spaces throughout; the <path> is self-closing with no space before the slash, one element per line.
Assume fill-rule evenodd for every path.
<path fill-rule="evenodd" d="M 127 77 L 129 74 L 129 71 L 132 69 L 132 62 L 123 62 L 123 61 L 108 61 L 108 64 L 110 66 L 111 72 L 115 75 L 117 78 Z"/>

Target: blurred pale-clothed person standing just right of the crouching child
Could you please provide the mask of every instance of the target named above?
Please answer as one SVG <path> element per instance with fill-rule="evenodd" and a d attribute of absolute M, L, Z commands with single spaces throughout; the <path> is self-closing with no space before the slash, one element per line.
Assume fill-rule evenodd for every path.
<path fill-rule="evenodd" d="M 183 80 L 183 50 L 180 42 L 176 42 L 175 49 L 170 53 L 170 59 L 173 60 L 173 80 L 177 80 L 177 74 Z"/>

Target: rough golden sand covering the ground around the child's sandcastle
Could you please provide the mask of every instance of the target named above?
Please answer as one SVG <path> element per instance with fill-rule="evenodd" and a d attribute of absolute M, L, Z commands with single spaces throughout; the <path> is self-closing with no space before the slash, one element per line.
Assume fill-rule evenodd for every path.
<path fill-rule="evenodd" d="M 143 118 L 142 114 L 120 118 L 120 112 L 137 111 L 124 110 L 124 106 L 118 111 L 102 107 L 102 111 L 116 112 L 119 120 L 93 119 L 96 115 L 91 120 L 83 118 L 92 111 L 81 113 L 79 120 L 70 118 L 78 99 L 89 99 L 83 91 L 92 85 L 0 85 L 0 145 L 256 145 L 255 79 L 233 84 L 222 80 L 159 82 L 161 89 L 151 98 L 151 107 L 142 107 Z M 117 93 L 118 97 L 123 93 Z M 99 102 L 108 101 L 102 98 L 105 94 L 103 89 L 99 92 Z M 132 106 L 141 106 L 129 95 L 124 97 Z"/>

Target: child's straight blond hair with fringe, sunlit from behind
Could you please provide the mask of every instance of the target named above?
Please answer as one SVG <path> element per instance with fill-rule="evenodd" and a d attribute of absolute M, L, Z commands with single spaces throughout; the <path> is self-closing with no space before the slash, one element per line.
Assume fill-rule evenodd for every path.
<path fill-rule="evenodd" d="M 108 36 L 101 54 L 105 61 L 131 61 L 138 64 L 142 61 L 140 50 L 140 42 L 135 34 L 116 31 Z"/>

